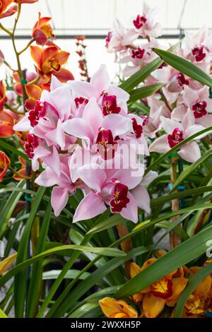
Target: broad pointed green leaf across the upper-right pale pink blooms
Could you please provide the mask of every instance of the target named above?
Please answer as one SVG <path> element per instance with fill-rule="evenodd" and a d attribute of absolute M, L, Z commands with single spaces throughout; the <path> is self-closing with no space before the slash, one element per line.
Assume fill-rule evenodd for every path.
<path fill-rule="evenodd" d="M 154 51 L 163 59 L 163 61 L 177 69 L 177 71 L 180 71 L 181 73 L 193 78 L 195 81 L 198 81 L 203 85 L 208 85 L 212 88 L 211 77 L 199 69 L 199 67 L 192 64 L 192 62 L 189 62 L 176 54 L 164 51 L 163 49 L 154 48 Z"/>

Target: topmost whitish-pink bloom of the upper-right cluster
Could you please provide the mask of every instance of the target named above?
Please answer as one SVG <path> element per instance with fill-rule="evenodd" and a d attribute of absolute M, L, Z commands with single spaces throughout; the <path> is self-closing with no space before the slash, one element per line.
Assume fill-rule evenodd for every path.
<path fill-rule="evenodd" d="M 160 23 L 155 23 L 155 13 L 157 11 L 157 8 L 150 8 L 143 4 L 143 13 L 134 18 L 134 28 L 142 37 L 158 37 L 162 34 L 162 26 Z"/>

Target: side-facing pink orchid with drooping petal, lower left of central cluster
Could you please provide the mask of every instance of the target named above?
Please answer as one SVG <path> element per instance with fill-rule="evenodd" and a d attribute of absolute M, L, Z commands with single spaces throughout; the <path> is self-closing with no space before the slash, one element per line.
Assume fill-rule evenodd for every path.
<path fill-rule="evenodd" d="M 69 172 L 69 155 L 59 155 L 61 173 L 58 175 L 51 167 L 45 170 L 35 179 L 40 186 L 54 186 L 52 189 L 51 203 L 54 215 L 58 216 L 66 206 L 69 196 L 76 191 L 76 185 L 71 182 Z"/>

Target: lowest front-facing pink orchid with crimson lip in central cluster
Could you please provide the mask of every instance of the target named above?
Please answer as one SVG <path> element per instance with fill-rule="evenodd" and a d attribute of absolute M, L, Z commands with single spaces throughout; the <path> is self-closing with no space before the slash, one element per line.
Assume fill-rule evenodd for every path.
<path fill-rule="evenodd" d="M 132 176 L 131 171 L 130 167 L 121 170 L 103 170 L 96 163 L 78 169 L 78 177 L 91 191 L 79 203 L 73 216 L 73 223 L 103 213 L 107 209 L 105 204 L 110 206 L 112 213 L 120 213 L 123 218 L 137 223 L 138 206 L 141 204 L 142 196 L 139 196 L 138 189 L 134 198 L 129 190 L 136 188 L 141 182 L 143 167 L 136 177 Z M 136 201 L 137 199 L 139 201 Z"/>

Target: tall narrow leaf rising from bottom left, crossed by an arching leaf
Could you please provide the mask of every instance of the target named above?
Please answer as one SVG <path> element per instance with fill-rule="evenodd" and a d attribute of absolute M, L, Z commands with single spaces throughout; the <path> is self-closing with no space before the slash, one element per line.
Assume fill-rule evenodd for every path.
<path fill-rule="evenodd" d="M 18 246 L 18 256 L 17 256 L 17 260 L 16 260 L 17 266 L 21 262 L 23 262 L 27 259 L 28 243 L 29 243 L 29 239 L 30 239 L 31 227 L 33 225 L 33 221 L 34 221 L 35 215 L 37 213 L 37 209 L 40 205 L 40 201 L 42 200 L 42 196 L 45 193 L 45 189 L 46 188 L 40 186 L 40 188 L 37 191 L 37 195 L 35 196 L 35 201 L 33 201 L 33 204 L 31 206 L 30 215 L 29 215 L 28 220 L 25 223 L 23 235 L 20 239 L 19 246 Z M 9 271 L 9 272 L 11 272 L 11 271 Z M 4 278 L 4 277 L 2 277 L 2 278 Z M 15 276 L 15 283 L 14 283 L 14 306 L 15 306 L 15 313 L 16 313 L 17 318 L 23 317 L 26 288 L 27 288 L 27 273 L 26 273 L 26 271 L 21 271 L 20 273 L 18 273 Z"/>

